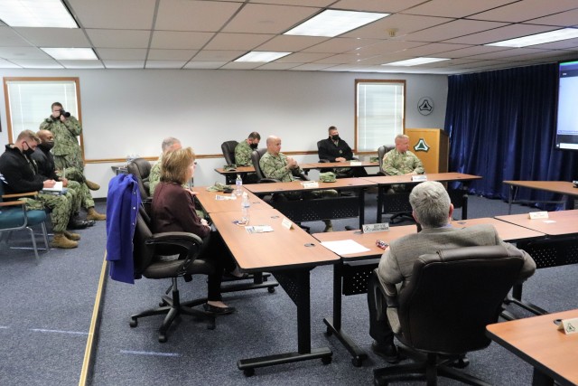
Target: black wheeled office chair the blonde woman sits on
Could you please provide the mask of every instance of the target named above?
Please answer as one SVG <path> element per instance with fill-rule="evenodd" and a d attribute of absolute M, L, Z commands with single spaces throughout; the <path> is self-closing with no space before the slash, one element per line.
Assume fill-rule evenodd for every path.
<path fill-rule="evenodd" d="M 181 314 L 192 315 L 196 319 L 209 322 L 209 329 L 215 328 L 215 316 L 192 308 L 207 301 L 200 298 L 181 303 L 178 278 L 191 281 L 192 275 L 210 275 L 214 267 L 209 261 L 198 259 L 202 240 L 199 236 L 187 232 L 155 233 L 150 229 L 150 219 L 144 208 L 139 209 L 133 238 L 133 258 L 135 278 L 171 278 L 172 297 L 163 296 L 161 306 L 131 316 L 131 327 L 138 325 L 138 319 L 151 315 L 166 315 L 159 328 L 159 342 L 167 341 L 167 332 L 172 321 Z M 162 260 L 162 256 L 179 255 L 178 259 Z M 168 290 L 167 290 L 168 293 Z"/>

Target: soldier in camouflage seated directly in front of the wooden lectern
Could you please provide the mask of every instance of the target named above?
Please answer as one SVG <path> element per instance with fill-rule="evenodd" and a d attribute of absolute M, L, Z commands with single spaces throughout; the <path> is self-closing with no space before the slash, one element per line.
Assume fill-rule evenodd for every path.
<path fill-rule="evenodd" d="M 404 134 L 396 136 L 396 148 L 383 156 L 383 170 L 387 175 L 424 174 L 424 164 L 417 155 L 409 151 L 409 137 Z M 394 192 L 410 192 L 413 184 L 396 184 Z"/>

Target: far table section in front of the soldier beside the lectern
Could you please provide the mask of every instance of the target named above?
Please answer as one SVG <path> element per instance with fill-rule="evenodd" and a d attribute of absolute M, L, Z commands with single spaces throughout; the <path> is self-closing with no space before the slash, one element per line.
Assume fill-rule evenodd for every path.
<path fill-rule="evenodd" d="M 480 175 L 473 174 L 462 174 L 462 173 L 430 173 L 424 174 L 427 177 L 427 181 L 437 181 L 440 183 L 452 183 L 460 182 L 461 187 L 461 200 L 463 207 L 461 208 L 461 218 L 468 218 L 468 186 L 471 181 L 480 180 L 482 177 Z M 419 182 L 412 181 L 414 175 L 378 175 L 378 176 L 368 176 L 361 177 L 364 180 L 368 180 L 372 183 L 378 184 L 378 217 L 377 222 L 381 222 L 381 216 L 383 214 L 383 202 L 387 199 L 386 191 L 391 185 L 397 184 L 419 184 Z"/>

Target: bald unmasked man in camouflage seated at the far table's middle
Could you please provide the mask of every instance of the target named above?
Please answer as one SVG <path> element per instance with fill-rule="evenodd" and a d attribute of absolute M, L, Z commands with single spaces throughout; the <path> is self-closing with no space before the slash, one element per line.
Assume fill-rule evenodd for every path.
<path fill-rule="evenodd" d="M 259 166 L 266 178 L 275 178 L 282 183 L 294 181 L 294 176 L 303 174 L 303 169 L 297 164 L 293 157 L 286 156 L 281 153 L 281 138 L 271 136 L 267 137 L 267 152 L 259 160 Z M 312 198 L 322 197 L 337 197 L 338 193 L 335 190 L 319 190 L 304 193 L 284 193 L 277 194 L 284 196 L 287 200 L 299 200 L 301 198 L 310 200 Z M 325 222 L 324 231 L 333 231 L 331 220 L 323 220 Z"/>

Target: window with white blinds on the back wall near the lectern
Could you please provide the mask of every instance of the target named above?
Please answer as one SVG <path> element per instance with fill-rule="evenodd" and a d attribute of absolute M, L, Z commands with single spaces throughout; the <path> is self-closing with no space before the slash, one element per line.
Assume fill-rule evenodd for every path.
<path fill-rule="evenodd" d="M 405 127 L 406 80 L 355 80 L 358 152 L 393 145 Z"/>

